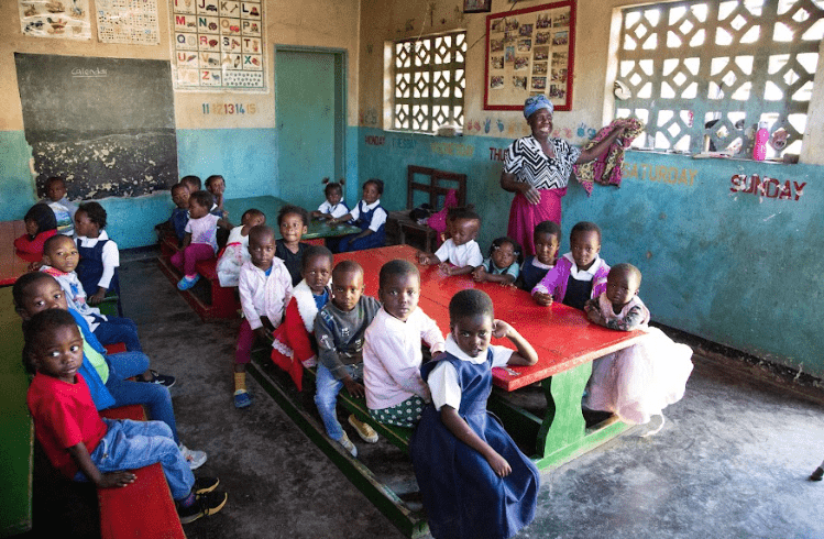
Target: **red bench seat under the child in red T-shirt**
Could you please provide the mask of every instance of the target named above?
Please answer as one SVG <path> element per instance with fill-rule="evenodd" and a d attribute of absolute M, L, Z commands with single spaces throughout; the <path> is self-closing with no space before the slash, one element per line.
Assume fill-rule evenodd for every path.
<path fill-rule="evenodd" d="M 121 406 L 100 413 L 109 419 L 145 421 L 142 406 Z M 138 479 L 122 488 L 98 488 L 102 539 L 185 538 L 177 507 L 160 463 L 134 470 Z"/>

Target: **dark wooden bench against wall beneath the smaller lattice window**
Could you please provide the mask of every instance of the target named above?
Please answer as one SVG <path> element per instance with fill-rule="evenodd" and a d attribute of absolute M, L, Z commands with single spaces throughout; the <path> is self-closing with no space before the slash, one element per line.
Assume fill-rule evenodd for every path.
<path fill-rule="evenodd" d="M 421 178 L 422 177 L 422 178 Z M 419 179 L 424 179 L 420 182 Z M 427 224 L 419 224 L 409 217 L 409 211 L 415 208 L 416 191 L 428 196 L 426 202 L 433 211 L 443 207 L 447 194 L 454 189 L 458 195 L 458 206 L 466 205 L 466 175 L 438 170 L 426 166 L 409 165 L 406 170 L 406 209 L 391 211 L 386 219 L 386 231 L 397 238 L 398 243 L 406 243 L 406 235 L 418 235 L 424 238 L 424 249 L 432 252 L 433 240 L 437 232 Z M 421 202 L 422 204 L 422 202 Z"/>

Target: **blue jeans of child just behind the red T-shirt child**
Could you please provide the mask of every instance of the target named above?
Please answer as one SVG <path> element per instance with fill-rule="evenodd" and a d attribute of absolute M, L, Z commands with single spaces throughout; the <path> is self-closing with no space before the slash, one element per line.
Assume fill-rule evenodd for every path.
<path fill-rule="evenodd" d="M 168 387 L 125 380 L 149 369 L 149 358 L 142 352 L 122 352 L 107 355 L 107 359 L 110 371 L 106 388 L 114 397 L 114 406 L 144 405 L 149 408 L 150 419 L 166 424 L 172 430 L 175 443 L 179 444 L 175 410 L 172 408 L 172 395 L 168 393 Z"/>

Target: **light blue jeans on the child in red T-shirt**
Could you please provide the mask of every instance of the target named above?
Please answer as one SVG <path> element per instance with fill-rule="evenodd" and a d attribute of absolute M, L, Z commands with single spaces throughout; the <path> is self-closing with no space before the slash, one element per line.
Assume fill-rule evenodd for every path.
<path fill-rule="evenodd" d="M 91 462 L 101 473 L 136 470 L 160 462 L 172 497 L 179 501 L 189 495 L 195 475 L 165 424 L 107 418 L 103 421 L 109 431 L 91 453 Z M 77 472 L 75 481 L 88 477 Z"/>

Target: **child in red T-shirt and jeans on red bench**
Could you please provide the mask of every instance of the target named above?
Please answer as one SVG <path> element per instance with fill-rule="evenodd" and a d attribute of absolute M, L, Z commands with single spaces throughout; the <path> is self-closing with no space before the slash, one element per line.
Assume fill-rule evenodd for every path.
<path fill-rule="evenodd" d="M 215 491 L 219 481 L 195 479 L 165 424 L 100 417 L 78 373 L 83 338 L 72 315 L 61 309 L 35 315 L 26 326 L 23 356 L 36 370 L 26 394 L 34 432 L 66 477 L 98 488 L 123 487 L 138 480 L 129 470 L 160 462 L 182 522 L 226 505 L 227 494 Z"/>

